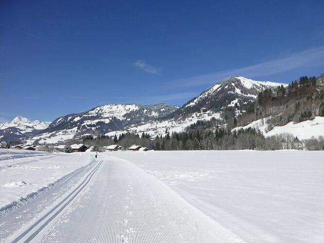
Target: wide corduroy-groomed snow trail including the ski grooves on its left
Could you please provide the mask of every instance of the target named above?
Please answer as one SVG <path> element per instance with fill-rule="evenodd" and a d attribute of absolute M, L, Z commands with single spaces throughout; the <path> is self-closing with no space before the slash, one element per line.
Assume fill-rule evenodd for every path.
<path fill-rule="evenodd" d="M 126 160 L 104 157 L 88 182 L 18 240 L 232 242 L 213 220 Z"/>

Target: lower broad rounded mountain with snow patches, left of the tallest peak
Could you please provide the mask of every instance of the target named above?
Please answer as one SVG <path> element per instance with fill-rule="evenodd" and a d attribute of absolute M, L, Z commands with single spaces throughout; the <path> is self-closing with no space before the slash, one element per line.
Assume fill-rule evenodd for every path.
<path fill-rule="evenodd" d="M 141 123 L 157 121 L 178 108 L 168 104 L 106 104 L 86 112 L 60 117 L 29 141 L 56 143 L 86 134 L 96 136 L 111 131 L 126 131 L 129 127 Z"/>

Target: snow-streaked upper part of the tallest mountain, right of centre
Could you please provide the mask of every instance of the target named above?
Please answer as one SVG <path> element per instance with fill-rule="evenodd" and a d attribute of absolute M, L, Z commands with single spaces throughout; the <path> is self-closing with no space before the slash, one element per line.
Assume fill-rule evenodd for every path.
<path fill-rule="evenodd" d="M 220 103 L 227 103 L 226 105 L 233 106 L 233 101 L 248 102 L 255 101 L 259 92 L 266 88 L 273 88 L 288 84 L 270 82 L 270 81 L 256 81 L 241 76 L 228 77 L 216 83 L 212 87 L 203 91 L 198 97 L 192 99 L 183 107 L 191 107 L 199 104 L 200 106 L 219 101 Z M 244 100 L 244 101 L 243 101 Z"/>

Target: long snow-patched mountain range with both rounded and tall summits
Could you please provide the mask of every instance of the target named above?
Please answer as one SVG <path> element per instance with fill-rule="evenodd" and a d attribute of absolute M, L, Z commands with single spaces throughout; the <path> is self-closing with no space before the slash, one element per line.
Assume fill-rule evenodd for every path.
<path fill-rule="evenodd" d="M 57 143 L 86 134 L 114 136 L 125 133 L 148 133 L 151 136 L 180 132 L 197 121 L 226 122 L 256 100 L 260 91 L 286 84 L 261 82 L 244 77 L 229 77 L 203 91 L 181 107 L 157 104 L 107 104 L 79 114 L 70 114 L 53 121 L 29 142 Z M 228 110 L 230 115 L 228 115 Z M 219 123 L 218 123 L 219 121 Z"/>

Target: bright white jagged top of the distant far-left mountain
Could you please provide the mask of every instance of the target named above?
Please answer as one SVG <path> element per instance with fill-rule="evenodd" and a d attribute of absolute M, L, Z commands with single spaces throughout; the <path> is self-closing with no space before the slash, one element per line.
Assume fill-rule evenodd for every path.
<path fill-rule="evenodd" d="M 19 128 L 20 132 L 31 130 L 43 130 L 46 129 L 51 121 L 30 121 L 28 118 L 17 116 L 11 122 L 0 123 L 0 130 L 4 130 L 10 127 Z"/>

